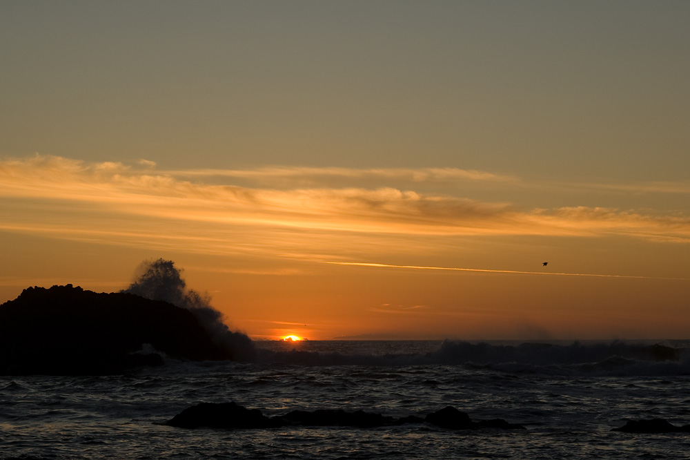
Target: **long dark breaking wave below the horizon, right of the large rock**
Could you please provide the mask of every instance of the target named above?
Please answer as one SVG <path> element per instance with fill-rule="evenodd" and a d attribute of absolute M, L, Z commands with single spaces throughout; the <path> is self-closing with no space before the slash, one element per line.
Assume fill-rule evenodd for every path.
<path fill-rule="evenodd" d="M 476 369 L 511 374 L 554 375 L 631 375 L 665 376 L 690 374 L 687 349 L 654 344 L 643 345 L 613 341 L 584 345 L 522 343 L 495 345 L 444 341 L 440 349 L 423 354 L 341 354 L 293 349 L 260 349 L 258 363 L 286 365 L 464 365 Z"/>

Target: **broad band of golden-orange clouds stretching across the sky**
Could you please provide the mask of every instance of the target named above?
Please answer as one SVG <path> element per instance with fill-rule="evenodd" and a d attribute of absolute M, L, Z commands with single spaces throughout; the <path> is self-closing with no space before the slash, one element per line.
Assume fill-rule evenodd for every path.
<path fill-rule="evenodd" d="M 397 237 L 417 238 L 420 245 L 433 244 L 422 243 L 419 238 L 426 236 L 627 236 L 690 242 L 690 218 L 678 213 L 604 207 L 530 209 L 388 186 L 250 188 L 181 180 L 146 166 L 142 171 L 119 162 L 45 155 L 1 160 L 0 229 L 110 244 L 188 247 L 200 253 L 321 260 L 333 260 L 334 252 L 375 250 L 382 244 L 405 250 Z M 305 170 L 331 171 L 279 169 L 284 175 Z M 444 173 L 465 174 L 421 169 L 415 176 L 413 171 L 333 169 L 331 173 L 403 174 L 420 181 L 437 180 Z"/>

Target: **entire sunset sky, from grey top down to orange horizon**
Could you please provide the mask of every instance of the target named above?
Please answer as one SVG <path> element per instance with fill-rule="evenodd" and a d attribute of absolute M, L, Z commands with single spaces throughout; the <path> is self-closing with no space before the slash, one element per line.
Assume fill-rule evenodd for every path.
<path fill-rule="evenodd" d="M 690 338 L 688 23 L 5 0 L 0 303 L 164 258 L 253 338 Z"/>

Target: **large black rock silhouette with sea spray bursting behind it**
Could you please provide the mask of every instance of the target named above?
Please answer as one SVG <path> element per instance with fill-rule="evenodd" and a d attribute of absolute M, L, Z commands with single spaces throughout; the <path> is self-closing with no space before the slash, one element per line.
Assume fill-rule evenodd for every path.
<path fill-rule="evenodd" d="M 81 287 L 30 287 L 0 305 L 1 375 L 121 374 L 171 358 L 230 356 L 186 309 L 132 294 L 99 294 Z"/>

